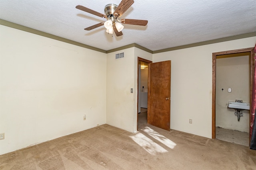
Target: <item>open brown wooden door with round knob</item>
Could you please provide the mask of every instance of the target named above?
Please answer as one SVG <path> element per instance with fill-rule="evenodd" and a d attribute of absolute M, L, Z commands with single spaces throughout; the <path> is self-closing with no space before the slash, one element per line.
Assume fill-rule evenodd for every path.
<path fill-rule="evenodd" d="M 170 131 L 171 61 L 148 64 L 148 124 Z"/>

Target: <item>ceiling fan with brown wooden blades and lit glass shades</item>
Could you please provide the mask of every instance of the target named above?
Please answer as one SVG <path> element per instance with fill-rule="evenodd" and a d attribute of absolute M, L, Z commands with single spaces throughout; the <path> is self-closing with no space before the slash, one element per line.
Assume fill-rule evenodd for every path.
<path fill-rule="evenodd" d="M 106 22 L 97 23 L 95 25 L 85 28 L 85 30 L 90 31 L 94 28 L 104 25 L 105 28 L 107 29 L 106 30 L 107 33 L 113 34 L 113 31 L 114 31 L 116 33 L 116 36 L 121 36 L 123 35 L 122 29 L 124 28 L 124 25 L 122 25 L 121 23 L 131 24 L 131 25 L 142 25 L 142 26 L 146 26 L 148 23 L 147 20 L 132 20 L 132 19 L 118 20 L 118 18 L 122 16 L 122 14 L 124 14 L 124 12 L 126 12 L 126 10 L 128 10 L 128 8 L 130 8 L 130 6 L 133 3 L 134 3 L 133 0 L 122 0 L 118 6 L 116 4 L 108 4 L 105 6 L 105 9 L 104 9 L 105 15 L 81 5 L 76 6 L 76 8 L 79 10 L 88 12 L 90 14 L 94 14 L 101 18 L 107 19 Z"/>

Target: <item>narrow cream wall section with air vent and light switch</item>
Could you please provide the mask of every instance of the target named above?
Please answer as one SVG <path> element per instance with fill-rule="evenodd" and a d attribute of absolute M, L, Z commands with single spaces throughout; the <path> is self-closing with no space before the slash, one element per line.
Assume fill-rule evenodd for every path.
<path fill-rule="evenodd" d="M 117 53 L 124 58 L 115 59 Z M 130 132 L 137 131 L 138 57 L 152 61 L 152 54 L 136 47 L 107 54 L 106 122 Z"/>

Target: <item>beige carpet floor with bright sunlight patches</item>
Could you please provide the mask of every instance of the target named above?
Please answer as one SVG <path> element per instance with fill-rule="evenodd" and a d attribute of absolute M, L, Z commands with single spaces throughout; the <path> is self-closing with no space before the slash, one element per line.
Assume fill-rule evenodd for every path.
<path fill-rule="evenodd" d="M 255 170 L 256 150 L 146 123 L 137 133 L 105 124 L 0 155 L 0 169 Z"/>

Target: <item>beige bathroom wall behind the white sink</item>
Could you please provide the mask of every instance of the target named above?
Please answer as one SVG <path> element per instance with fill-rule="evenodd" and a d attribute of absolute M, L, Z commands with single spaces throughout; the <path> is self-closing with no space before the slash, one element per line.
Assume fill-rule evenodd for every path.
<path fill-rule="evenodd" d="M 232 91 L 228 92 L 228 88 L 232 88 Z M 249 56 L 216 60 L 216 126 L 249 132 L 250 111 L 244 110 L 244 115 L 238 121 L 235 110 L 226 106 L 228 101 L 236 99 L 250 103 Z"/>

